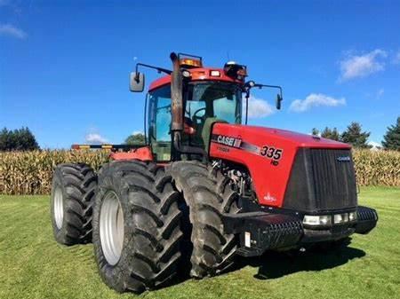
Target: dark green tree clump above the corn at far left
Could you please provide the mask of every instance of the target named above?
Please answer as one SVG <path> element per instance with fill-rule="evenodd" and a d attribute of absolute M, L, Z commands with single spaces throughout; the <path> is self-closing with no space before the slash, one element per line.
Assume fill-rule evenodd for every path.
<path fill-rule="evenodd" d="M 35 136 L 28 128 L 0 131 L 0 151 L 33 151 L 39 149 Z"/>

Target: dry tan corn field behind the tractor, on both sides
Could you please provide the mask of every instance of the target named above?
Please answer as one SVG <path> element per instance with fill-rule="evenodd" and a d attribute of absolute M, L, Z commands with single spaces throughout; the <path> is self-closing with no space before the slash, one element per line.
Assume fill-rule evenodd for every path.
<path fill-rule="evenodd" d="M 99 169 L 108 151 L 0 152 L 0 194 L 48 194 L 52 170 L 65 162 L 84 162 Z M 400 152 L 355 150 L 359 185 L 400 186 Z"/>

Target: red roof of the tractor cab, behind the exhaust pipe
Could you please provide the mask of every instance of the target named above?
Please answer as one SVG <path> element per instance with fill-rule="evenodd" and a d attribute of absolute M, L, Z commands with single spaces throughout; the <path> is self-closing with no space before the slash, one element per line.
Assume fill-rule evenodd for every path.
<path fill-rule="evenodd" d="M 236 83 L 239 85 L 244 85 L 244 80 L 238 80 L 236 78 L 230 77 L 225 74 L 222 68 L 212 68 L 212 67 L 198 67 L 188 69 L 190 72 L 190 81 L 222 81 L 228 83 Z M 218 75 L 219 74 L 219 75 Z M 164 85 L 171 83 L 171 75 L 164 75 L 161 78 L 153 81 L 148 87 L 148 91 L 156 90 Z"/>

